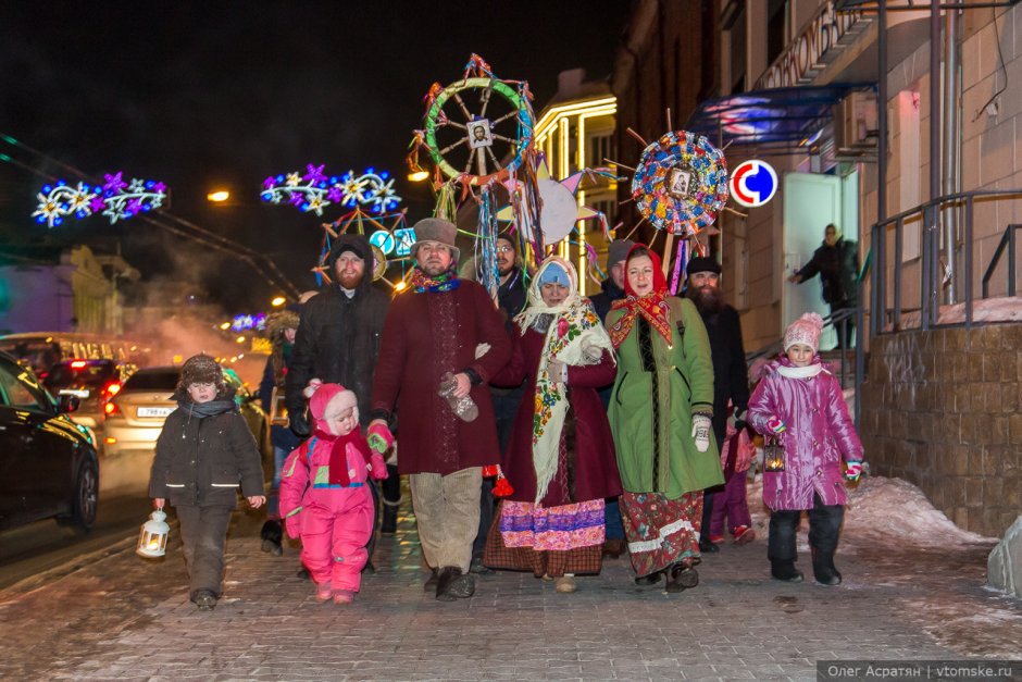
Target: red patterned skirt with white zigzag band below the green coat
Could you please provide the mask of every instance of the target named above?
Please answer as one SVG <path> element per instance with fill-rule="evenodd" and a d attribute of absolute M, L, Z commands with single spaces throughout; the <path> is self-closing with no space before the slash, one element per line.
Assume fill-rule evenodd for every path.
<path fill-rule="evenodd" d="M 677 561 L 699 560 L 702 491 L 668 499 L 660 493 L 623 493 L 621 516 L 632 568 L 649 575 Z"/>

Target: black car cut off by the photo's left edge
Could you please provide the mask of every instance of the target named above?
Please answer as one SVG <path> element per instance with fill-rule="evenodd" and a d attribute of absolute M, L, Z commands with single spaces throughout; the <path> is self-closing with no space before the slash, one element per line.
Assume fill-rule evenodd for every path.
<path fill-rule="evenodd" d="M 32 370 L 0 352 L 0 529 L 55 517 L 88 530 L 99 500 L 99 458 L 67 413 L 75 396 L 54 399 Z"/>

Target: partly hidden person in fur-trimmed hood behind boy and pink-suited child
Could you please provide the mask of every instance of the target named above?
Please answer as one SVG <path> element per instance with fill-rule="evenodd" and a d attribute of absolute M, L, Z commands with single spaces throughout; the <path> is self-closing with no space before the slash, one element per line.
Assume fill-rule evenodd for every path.
<path fill-rule="evenodd" d="M 298 334 L 299 317 L 297 309 L 274 312 L 266 318 L 266 336 L 270 337 L 271 350 L 259 384 L 259 401 L 263 411 L 271 417 L 270 442 L 273 445 L 273 482 L 266 501 L 266 522 L 260 531 L 261 548 L 275 557 L 284 554 L 284 528 L 279 513 L 281 468 L 287 456 L 301 444 L 301 438 L 288 429 L 282 418 L 284 408 L 284 377 L 287 375 L 295 337 Z"/>

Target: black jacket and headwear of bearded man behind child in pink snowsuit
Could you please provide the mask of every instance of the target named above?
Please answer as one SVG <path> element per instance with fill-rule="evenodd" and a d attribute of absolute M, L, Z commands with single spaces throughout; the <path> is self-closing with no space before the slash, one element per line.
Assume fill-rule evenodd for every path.
<path fill-rule="evenodd" d="M 302 307 L 285 377 L 285 402 L 294 419 L 306 411 L 302 389 L 310 379 L 337 383 L 354 392 L 359 400 L 359 421 L 364 427 L 370 422 L 373 372 L 390 297 L 373 286 L 373 253 L 363 235 L 344 234 L 334 240 L 327 258 L 331 276 L 334 261 L 345 245 L 352 245 L 367 255 L 363 256 L 365 275 L 351 298 L 334 283 Z"/>

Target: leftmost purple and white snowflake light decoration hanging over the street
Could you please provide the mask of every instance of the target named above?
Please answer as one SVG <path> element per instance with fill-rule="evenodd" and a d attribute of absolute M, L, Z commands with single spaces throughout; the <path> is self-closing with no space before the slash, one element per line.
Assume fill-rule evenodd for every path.
<path fill-rule="evenodd" d="M 54 227 L 67 215 L 82 219 L 102 213 L 113 224 L 159 209 L 166 201 L 166 185 L 163 183 L 138 178 L 125 182 L 122 172 L 104 174 L 103 179 L 103 184 L 97 186 L 87 183 L 71 186 L 62 179 L 45 185 L 37 197 L 39 207 L 32 216 L 40 225 L 46 223 L 48 227 Z"/>

